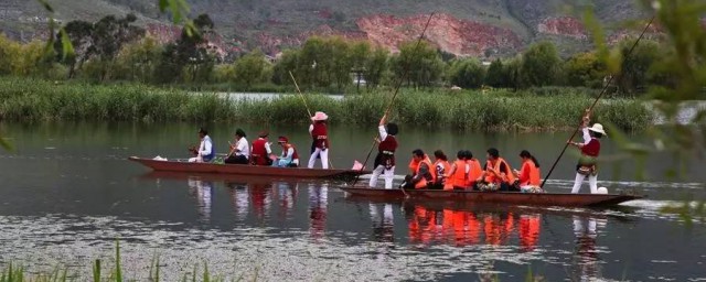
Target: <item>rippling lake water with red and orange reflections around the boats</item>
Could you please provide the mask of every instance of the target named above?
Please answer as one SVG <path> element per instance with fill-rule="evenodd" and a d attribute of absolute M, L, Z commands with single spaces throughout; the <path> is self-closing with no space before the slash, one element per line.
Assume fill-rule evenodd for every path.
<path fill-rule="evenodd" d="M 653 155 L 641 178 L 635 163 L 605 140 L 602 154 L 620 161 L 601 165 L 599 185 L 649 195 L 610 209 L 353 200 L 338 189 L 342 182 L 151 173 L 126 161 L 186 158 L 199 126 L 0 123 L 15 147 L 0 151 L 1 263 L 33 271 L 66 265 L 86 280 L 93 260 L 113 264 L 119 239 L 124 273 L 140 281 L 156 257 L 163 281 L 195 265 L 201 273 L 204 263 L 228 281 L 521 281 L 528 273 L 545 281 L 706 280 L 706 226 L 660 212 L 706 199 L 703 160 L 672 180 L 663 174 L 672 158 Z M 224 152 L 236 124 L 208 127 Z M 248 137 L 264 129 L 242 127 Z M 267 129 L 288 135 L 308 160 L 306 126 Z M 374 133 L 332 128 L 333 165 L 362 162 Z M 400 127 L 397 174 L 416 148 L 481 156 L 496 147 L 514 166 L 527 149 L 548 170 L 567 137 Z M 547 189 L 569 192 L 575 163 L 567 153 Z"/>

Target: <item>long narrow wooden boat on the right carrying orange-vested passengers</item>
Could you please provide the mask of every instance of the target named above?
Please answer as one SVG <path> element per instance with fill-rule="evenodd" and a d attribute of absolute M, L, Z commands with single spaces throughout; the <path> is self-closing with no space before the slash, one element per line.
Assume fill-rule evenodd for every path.
<path fill-rule="evenodd" d="M 466 203 L 493 203 L 527 206 L 596 207 L 613 206 L 623 202 L 643 198 L 637 195 L 616 194 L 559 194 L 559 193 L 518 193 L 518 192 L 474 192 L 440 189 L 381 189 L 367 187 L 341 187 L 352 197 L 375 199 L 400 199 L 405 197 L 418 200 L 446 200 Z"/>

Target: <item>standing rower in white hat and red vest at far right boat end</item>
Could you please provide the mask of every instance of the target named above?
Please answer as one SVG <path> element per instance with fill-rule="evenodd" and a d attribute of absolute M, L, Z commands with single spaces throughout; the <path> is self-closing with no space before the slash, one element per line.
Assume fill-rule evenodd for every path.
<path fill-rule="evenodd" d="M 600 154 L 600 138 L 606 135 L 603 126 L 595 123 L 592 127 L 588 127 L 590 121 L 590 111 L 586 110 L 584 116 L 584 122 L 581 124 L 581 132 L 584 133 L 584 142 L 567 141 L 569 144 L 575 145 L 581 150 L 581 158 L 576 165 L 576 180 L 574 181 L 573 194 L 577 194 L 581 189 L 584 180 L 588 176 L 588 185 L 590 186 L 591 194 L 598 193 L 598 170 L 596 167 L 598 155 Z"/>

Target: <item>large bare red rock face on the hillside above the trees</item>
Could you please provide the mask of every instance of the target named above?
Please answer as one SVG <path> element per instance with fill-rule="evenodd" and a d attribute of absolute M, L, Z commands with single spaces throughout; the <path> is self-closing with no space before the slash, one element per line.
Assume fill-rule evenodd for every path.
<path fill-rule="evenodd" d="M 397 52 L 403 42 L 416 40 L 427 23 L 428 15 L 409 18 L 371 15 L 356 21 L 359 29 L 371 42 Z M 437 14 L 431 20 L 427 40 L 442 51 L 459 56 L 480 56 L 489 48 L 516 48 L 520 37 L 509 29 Z"/>

